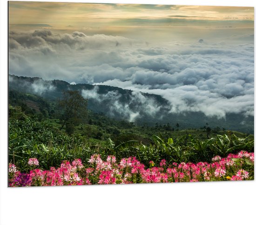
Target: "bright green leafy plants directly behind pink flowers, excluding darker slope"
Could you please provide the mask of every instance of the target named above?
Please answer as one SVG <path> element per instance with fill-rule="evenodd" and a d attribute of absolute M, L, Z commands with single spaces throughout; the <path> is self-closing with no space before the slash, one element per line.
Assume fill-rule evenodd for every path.
<path fill-rule="evenodd" d="M 18 112 L 19 110 L 18 108 Z M 39 159 L 40 166 L 49 169 L 51 166 L 59 166 L 63 160 L 80 158 L 86 163 L 94 153 L 101 154 L 103 159 L 108 155 L 115 155 L 117 159 L 135 156 L 147 165 L 149 161 L 159 164 L 162 159 L 166 159 L 168 163 L 209 162 L 216 155 L 226 157 L 229 153 L 240 150 L 254 150 L 252 137 L 238 138 L 235 134 L 217 135 L 204 140 L 193 138 L 190 134 L 176 139 L 153 135 L 148 145 L 138 140 L 128 140 L 116 145 L 110 138 L 99 141 L 76 133 L 68 136 L 59 127 L 57 119 L 40 122 L 30 117 L 24 120 L 16 119 L 16 116 L 11 118 L 9 162 L 26 171 L 29 158 Z"/>

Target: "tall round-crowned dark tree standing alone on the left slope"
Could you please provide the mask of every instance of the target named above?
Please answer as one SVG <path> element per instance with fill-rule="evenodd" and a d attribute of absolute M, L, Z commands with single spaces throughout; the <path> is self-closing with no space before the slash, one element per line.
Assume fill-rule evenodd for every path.
<path fill-rule="evenodd" d="M 62 108 L 61 119 L 66 125 L 66 131 L 71 134 L 74 132 L 74 126 L 78 125 L 87 118 L 87 99 L 81 96 L 79 91 L 64 91 L 59 105 Z"/>

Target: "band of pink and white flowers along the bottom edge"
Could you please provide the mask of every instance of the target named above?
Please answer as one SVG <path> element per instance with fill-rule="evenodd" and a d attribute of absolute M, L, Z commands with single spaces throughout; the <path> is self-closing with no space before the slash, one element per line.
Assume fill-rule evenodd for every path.
<path fill-rule="evenodd" d="M 254 153 L 240 151 L 226 158 L 215 156 L 211 163 L 167 164 L 162 159 L 159 165 L 153 161 L 146 168 L 135 157 L 123 158 L 117 162 L 115 156 L 106 160 L 94 154 L 86 162 L 75 159 L 64 160 L 60 167 L 42 170 L 36 158 L 27 162 L 28 172 L 20 172 L 14 164 L 9 164 L 9 186 L 55 186 L 55 185 L 94 185 L 94 184 L 132 184 L 198 182 L 224 180 L 253 180 Z"/>

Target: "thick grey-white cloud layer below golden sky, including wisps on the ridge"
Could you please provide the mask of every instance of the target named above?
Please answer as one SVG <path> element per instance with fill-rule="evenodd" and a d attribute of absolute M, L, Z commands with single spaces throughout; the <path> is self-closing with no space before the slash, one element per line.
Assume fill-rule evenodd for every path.
<path fill-rule="evenodd" d="M 141 104 L 146 99 L 139 91 L 159 94 L 168 100 L 171 113 L 202 112 L 219 118 L 226 113 L 253 116 L 252 37 L 241 33 L 217 42 L 211 38 L 198 41 L 201 39 L 198 38 L 191 42 L 150 44 L 121 36 L 88 36 L 81 32 L 11 32 L 9 73 L 118 86 L 137 93 L 134 98 L 141 98 Z M 115 99 L 113 110 L 125 109 L 115 93 L 108 94 Z M 154 103 L 145 104 L 154 107 Z M 136 113 L 131 111 L 127 119 L 138 117 Z"/>

